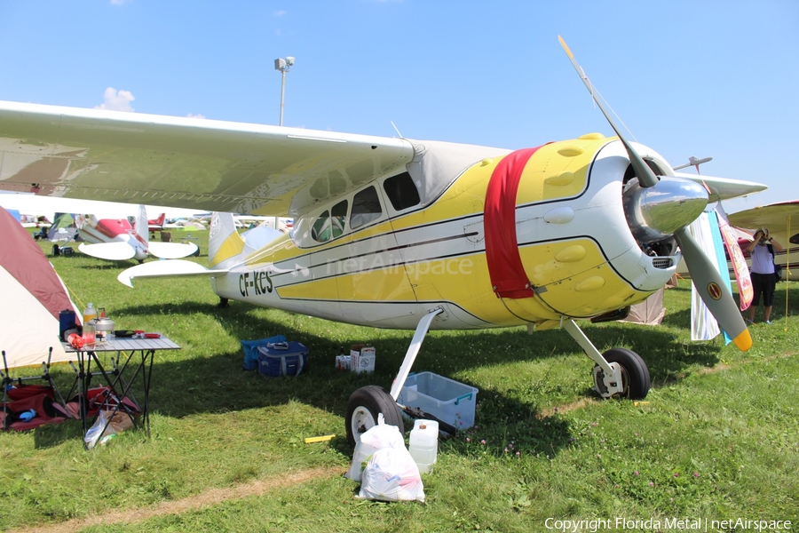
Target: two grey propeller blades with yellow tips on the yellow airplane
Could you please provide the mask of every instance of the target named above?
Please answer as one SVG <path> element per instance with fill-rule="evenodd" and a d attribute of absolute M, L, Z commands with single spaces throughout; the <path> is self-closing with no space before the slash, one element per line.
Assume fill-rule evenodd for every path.
<path fill-rule="evenodd" d="M 635 148 L 633 148 L 628 140 L 621 134 L 620 129 L 613 123 L 613 119 L 610 114 L 608 114 L 605 106 L 597 98 L 594 86 L 591 84 L 588 76 L 585 75 L 585 72 L 577 63 L 577 60 L 574 59 L 574 54 L 569 50 L 566 41 L 564 41 L 561 36 L 558 36 L 558 41 L 560 41 L 560 45 L 563 46 L 563 50 L 572 62 L 572 66 L 580 76 L 582 83 L 585 84 L 586 88 L 591 93 L 591 98 L 597 103 L 597 107 L 599 107 L 599 110 L 605 115 L 605 120 L 610 123 L 611 128 L 613 128 L 613 131 L 615 131 L 616 135 L 619 137 L 624 149 L 627 150 L 629 163 L 636 172 L 639 185 L 645 188 L 657 186 L 661 179 L 655 175 L 654 171 L 644 161 L 644 158 L 636 152 Z M 697 213 L 697 216 L 698 214 L 699 213 Z M 732 298 L 732 292 L 727 289 L 716 266 L 708 259 L 708 256 L 705 255 L 700 245 L 693 239 L 691 232 L 685 225 L 673 228 L 673 232 L 677 244 L 679 244 L 680 249 L 683 251 L 685 265 L 691 273 L 693 284 L 699 291 L 702 301 L 708 306 L 710 313 L 716 317 L 716 321 L 721 329 L 726 331 L 727 335 L 732 338 L 732 342 L 735 343 L 735 346 L 738 346 L 741 351 L 747 351 L 752 347 L 752 337 L 749 335 L 747 324 L 743 321 L 743 317 L 741 317 L 738 311 L 738 306 L 735 304 L 734 298 Z"/>

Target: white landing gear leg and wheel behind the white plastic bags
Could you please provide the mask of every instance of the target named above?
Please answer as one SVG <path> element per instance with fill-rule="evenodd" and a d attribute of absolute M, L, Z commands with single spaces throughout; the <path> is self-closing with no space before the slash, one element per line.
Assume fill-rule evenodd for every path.
<path fill-rule="evenodd" d="M 383 415 L 384 422 L 391 426 L 399 427 L 399 433 L 405 433 L 405 424 L 402 421 L 402 413 L 397 405 L 397 398 L 402 386 L 405 385 L 407 375 L 413 366 L 416 355 L 422 347 L 422 341 L 430 330 L 432 320 L 439 313 L 443 313 L 443 307 L 437 307 L 422 317 L 419 325 L 416 326 L 414 338 L 411 339 L 410 346 L 407 347 L 405 359 L 399 367 L 397 378 L 394 379 L 391 394 L 386 393 L 379 386 L 362 386 L 352 393 L 347 401 L 347 442 L 355 446 L 360 442 L 360 434 L 365 433 L 369 428 L 376 426 L 377 418 Z"/>

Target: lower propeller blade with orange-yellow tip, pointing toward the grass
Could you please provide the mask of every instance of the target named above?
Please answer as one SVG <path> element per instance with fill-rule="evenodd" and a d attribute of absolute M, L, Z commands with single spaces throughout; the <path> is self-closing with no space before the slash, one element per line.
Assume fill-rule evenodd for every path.
<path fill-rule="evenodd" d="M 752 347 L 752 337 L 732 298 L 732 293 L 718 274 L 716 266 L 693 239 L 687 227 L 677 230 L 674 237 L 683 251 L 685 265 L 691 273 L 693 285 L 699 291 L 702 301 L 716 317 L 721 329 L 732 338 L 735 346 L 746 352 Z"/>

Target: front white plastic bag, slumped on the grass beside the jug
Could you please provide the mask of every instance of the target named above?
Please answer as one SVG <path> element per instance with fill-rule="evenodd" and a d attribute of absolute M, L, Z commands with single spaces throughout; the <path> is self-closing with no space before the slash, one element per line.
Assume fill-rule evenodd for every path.
<path fill-rule="evenodd" d="M 424 502 L 419 468 L 403 444 L 401 449 L 378 449 L 363 471 L 358 497 L 387 502 Z"/>

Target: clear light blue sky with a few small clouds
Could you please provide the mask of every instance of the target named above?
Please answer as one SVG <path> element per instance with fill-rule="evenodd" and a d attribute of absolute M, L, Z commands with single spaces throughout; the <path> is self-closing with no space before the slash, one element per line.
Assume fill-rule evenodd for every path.
<path fill-rule="evenodd" d="M 795 0 L 2 0 L 0 99 L 536 147 L 613 131 L 799 199 Z M 392 123 L 396 126 L 392 125 Z M 686 170 L 688 171 L 688 170 Z"/>

